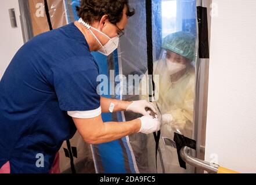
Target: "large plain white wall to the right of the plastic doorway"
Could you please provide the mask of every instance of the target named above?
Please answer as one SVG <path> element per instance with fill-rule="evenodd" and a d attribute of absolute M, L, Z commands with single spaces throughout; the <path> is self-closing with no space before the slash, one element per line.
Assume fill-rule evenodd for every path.
<path fill-rule="evenodd" d="M 256 1 L 213 2 L 205 160 L 256 173 Z"/>

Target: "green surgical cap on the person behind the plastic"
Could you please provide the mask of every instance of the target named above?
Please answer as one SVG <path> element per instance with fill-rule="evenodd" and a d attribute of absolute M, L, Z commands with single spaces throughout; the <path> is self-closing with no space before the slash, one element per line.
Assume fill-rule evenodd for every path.
<path fill-rule="evenodd" d="M 195 57 L 196 38 L 189 32 L 175 32 L 164 38 L 162 48 L 171 50 L 193 61 Z"/>

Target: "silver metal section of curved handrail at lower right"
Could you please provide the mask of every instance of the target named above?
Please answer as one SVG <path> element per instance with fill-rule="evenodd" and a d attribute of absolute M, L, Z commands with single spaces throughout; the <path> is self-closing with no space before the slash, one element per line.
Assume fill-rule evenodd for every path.
<path fill-rule="evenodd" d="M 210 162 L 200 160 L 199 158 L 192 157 L 189 154 L 189 151 L 190 151 L 189 147 L 187 146 L 182 147 L 179 153 L 181 154 L 181 158 L 183 161 L 185 161 L 186 163 L 196 168 L 203 169 L 204 171 L 207 171 L 210 173 L 218 173 L 219 165 L 212 164 Z"/>

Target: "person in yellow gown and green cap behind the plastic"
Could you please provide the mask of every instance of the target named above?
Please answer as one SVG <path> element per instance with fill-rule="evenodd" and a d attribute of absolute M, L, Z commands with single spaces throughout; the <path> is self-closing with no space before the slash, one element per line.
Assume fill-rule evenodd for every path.
<path fill-rule="evenodd" d="M 161 117 L 161 138 L 157 156 L 158 173 L 186 173 L 179 166 L 174 132 L 192 138 L 195 73 L 195 37 L 189 32 L 175 32 L 163 40 L 161 59 L 154 62 L 154 101 Z M 143 77 L 142 84 L 146 83 Z M 143 88 L 143 86 L 140 86 Z M 144 86 L 145 87 L 145 86 Z M 140 91 L 141 99 L 148 94 Z M 148 135 L 149 166 L 156 166 L 153 134 Z"/>

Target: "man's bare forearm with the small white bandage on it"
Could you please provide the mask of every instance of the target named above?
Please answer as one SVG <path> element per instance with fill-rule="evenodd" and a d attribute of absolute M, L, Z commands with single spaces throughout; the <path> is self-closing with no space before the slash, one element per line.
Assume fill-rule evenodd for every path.
<path fill-rule="evenodd" d="M 125 111 L 127 107 L 132 103 L 128 101 L 121 101 L 118 99 L 100 98 L 100 106 L 103 113 L 109 113 L 110 104 L 114 104 L 113 112 Z"/>

